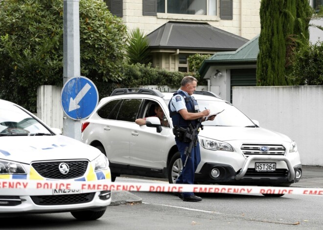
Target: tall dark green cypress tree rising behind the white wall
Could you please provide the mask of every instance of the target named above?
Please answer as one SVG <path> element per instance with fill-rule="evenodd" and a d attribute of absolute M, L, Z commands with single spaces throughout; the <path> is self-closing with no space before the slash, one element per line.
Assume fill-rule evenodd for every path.
<path fill-rule="evenodd" d="M 294 50 L 308 44 L 308 0 L 262 0 L 257 85 L 288 85 Z"/>

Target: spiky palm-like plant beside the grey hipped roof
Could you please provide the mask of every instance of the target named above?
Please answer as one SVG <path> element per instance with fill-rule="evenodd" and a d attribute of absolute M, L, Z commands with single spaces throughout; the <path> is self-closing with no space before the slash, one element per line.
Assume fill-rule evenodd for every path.
<path fill-rule="evenodd" d="M 131 31 L 126 47 L 130 64 L 148 64 L 150 61 L 149 41 L 139 28 Z"/>

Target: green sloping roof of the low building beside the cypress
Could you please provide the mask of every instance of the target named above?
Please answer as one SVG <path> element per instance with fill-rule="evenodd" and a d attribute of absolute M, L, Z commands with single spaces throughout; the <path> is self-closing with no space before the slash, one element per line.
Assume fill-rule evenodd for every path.
<path fill-rule="evenodd" d="M 201 77 L 204 77 L 208 68 L 212 65 L 256 63 L 259 53 L 258 39 L 259 35 L 242 45 L 236 51 L 217 52 L 213 54 L 210 58 L 203 61 L 202 66 L 199 69 Z"/>

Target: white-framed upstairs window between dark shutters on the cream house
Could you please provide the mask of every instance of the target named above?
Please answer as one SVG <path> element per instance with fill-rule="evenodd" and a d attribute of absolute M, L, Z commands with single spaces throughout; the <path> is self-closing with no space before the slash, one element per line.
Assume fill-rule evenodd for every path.
<path fill-rule="evenodd" d="M 157 12 L 214 16 L 216 2 L 217 0 L 157 0 Z"/>

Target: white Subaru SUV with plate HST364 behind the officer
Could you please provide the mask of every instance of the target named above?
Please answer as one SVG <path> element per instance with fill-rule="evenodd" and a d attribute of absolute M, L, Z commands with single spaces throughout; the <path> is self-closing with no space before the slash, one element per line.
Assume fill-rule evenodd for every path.
<path fill-rule="evenodd" d="M 176 180 L 183 165 L 168 111 L 172 96 L 153 89 L 115 89 L 82 124 L 82 141 L 107 155 L 112 180 L 120 174 Z M 214 121 L 203 122 L 197 183 L 289 186 L 300 180 L 300 155 L 289 137 L 259 127 L 211 92 L 195 91 L 193 96 L 211 113 L 224 110 Z M 163 109 L 168 127 L 151 117 L 155 105 Z M 150 117 L 146 125 L 135 123 L 144 117 Z"/>

